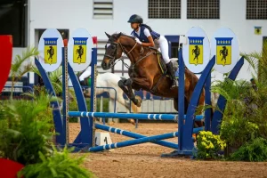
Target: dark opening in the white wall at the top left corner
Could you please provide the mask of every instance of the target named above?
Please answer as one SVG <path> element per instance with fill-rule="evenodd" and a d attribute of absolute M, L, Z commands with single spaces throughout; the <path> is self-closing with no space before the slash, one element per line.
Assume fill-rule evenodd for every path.
<path fill-rule="evenodd" d="M 12 35 L 14 47 L 26 46 L 26 0 L 0 2 L 0 35 Z"/>

